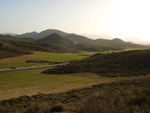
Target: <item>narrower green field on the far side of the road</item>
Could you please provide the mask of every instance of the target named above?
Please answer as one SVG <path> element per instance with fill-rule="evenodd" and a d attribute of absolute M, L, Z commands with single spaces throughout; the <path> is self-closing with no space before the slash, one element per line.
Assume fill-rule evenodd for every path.
<path fill-rule="evenodd" d="M 82 55 L 93 55 L 95 52 L 80 52 L 80 53 L 50 53 L 50 52 L 39 52 L 35 51 L 30 55 L 23 55 L 13 58 L 0 59 L 0 69 L 15 67 L 26 67 L 34 65 L 45 65 L 38 63 L 26 63 L 26 60 L 45 60 L 51 62 L 64 62 L 70 60 L 81 60 L 88 56 Z"/>

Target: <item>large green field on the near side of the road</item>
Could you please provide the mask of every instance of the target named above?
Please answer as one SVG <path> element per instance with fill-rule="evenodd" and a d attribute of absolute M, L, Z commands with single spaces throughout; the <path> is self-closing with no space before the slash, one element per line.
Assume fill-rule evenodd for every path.
<path fill-rule="evenodd" d="M 58 93 L 93 84 L 107 83 L 126 77 L 108 78 L 92 73 L 42 74 L 46 69 L 21 70 L 0 73 L 0 100 L 37 93 Z"/>

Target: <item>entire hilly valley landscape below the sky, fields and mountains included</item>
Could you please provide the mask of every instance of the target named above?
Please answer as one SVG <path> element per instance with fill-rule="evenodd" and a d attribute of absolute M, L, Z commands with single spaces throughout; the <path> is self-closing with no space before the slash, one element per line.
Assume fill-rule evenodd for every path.
<path fill-rule="evenodd" d="M 0 113 L 149 110 L 148 46 L 52 31 L 0 35 Z M 109 90 L 114 99 L 108 98 Z M 144 109 L 133 102 L 138 101 L 136 91 Z"/>

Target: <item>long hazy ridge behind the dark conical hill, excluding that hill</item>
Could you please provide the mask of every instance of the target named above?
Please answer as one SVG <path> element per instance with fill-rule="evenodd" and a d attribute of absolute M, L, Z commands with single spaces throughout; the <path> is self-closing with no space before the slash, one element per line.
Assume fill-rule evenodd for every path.
<path fill-rule="evenodd" d="M 104 39 L 104 37 L 101 37 L 99 39 L 90 39 L 82 35 L 77 35 L 73 33 L 66 33 L 57 29 L 47 29 L 42 32 L 29 32 L 29 33 L 24 33 L 21 35 L 16 35 L 16 37 L 19 38 L 34 38 L 34 39 L 42 39 L 45 37 L 50 36 L 51 34 L 56 33 L 60 35 L 63 38 L 66 38 L 68 40 L 73 41 L 76 44 L 95 44 L 95 45 L 101 45 L 101 46 L 115 46 L 115 47 L 124 47 L 124 48 L 147 48 L 144 45 L 139 45 L 139 44 L 134 44 L 134 43 L 129 43 L 125 42 L 119 38 L 115 39 Z M 65 40 L 65 39 L 63 39 Z M 56 42 L 55 42 L 56 43 Z"/>

